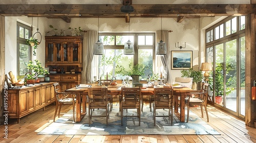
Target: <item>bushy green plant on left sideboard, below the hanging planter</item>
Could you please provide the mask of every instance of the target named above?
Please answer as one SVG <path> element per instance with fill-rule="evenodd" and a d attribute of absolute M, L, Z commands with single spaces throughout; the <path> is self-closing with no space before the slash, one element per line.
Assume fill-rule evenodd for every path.
<path fill-rule="evenodd" d="M 39 75 L 49 74 L 49 72 L 41 66 L 41 63 L 38 60 L 35 60 L 35 63 L 29 61 L 29 63 L 27 64 L 27 68 L 32 70 L 32 75 L 35 76 L 35 79 L 38 79 Z"/>

